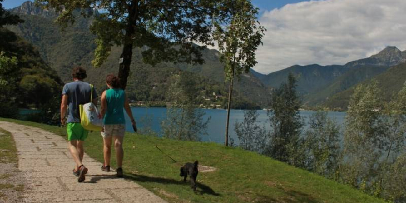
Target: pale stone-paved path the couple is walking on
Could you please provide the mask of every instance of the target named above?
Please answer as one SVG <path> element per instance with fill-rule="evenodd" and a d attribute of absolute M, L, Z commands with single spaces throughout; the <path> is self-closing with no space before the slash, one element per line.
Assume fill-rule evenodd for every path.
<path fill-rule="evenodd" d="M 102 171 L 102 164 L 86 154 L 83 160 L 89 171 L 86 180 L 78 183 L 72 174 L 74 163 L 64 138 L 15 123 L 0 121 L 0 127 L 14 136 L 18 168 L 28 181 L 25 202 L 166 203 L 135 182 L 116 178 L 115 172 Z"/>

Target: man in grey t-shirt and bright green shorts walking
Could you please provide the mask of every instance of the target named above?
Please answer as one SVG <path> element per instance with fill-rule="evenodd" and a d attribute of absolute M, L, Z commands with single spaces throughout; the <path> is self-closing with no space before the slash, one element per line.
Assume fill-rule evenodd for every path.
<path fill-rule="evenodd" d="M 78 176 L 78 182 L 84 181 L 87 173 L 87 168 L 82 164 L 82 160 L 84 153 L 83 142 L 89 133 L 80 125 L 79 105 L 89 103 L 91 97 L 93 97 L 93 104 L 97 105 L 96 91 L 91 89 L 89 83 L 83 82 L 86 77 L 86 70 L 81 67 L 73 68 L 73 82 L 69 82 L 63 87 L 62 102 L 60 103 L 60 123 L 67 123 L 68 147 L 76 163 L 73 174 Z M 67 108 L 68 117 L 65 119 Z"/>

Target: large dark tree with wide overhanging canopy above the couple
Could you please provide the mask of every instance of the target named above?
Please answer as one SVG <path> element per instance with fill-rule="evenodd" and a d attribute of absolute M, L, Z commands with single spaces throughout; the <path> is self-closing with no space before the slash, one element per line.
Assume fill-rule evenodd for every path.
<path fill-rule="evenodd" d="M 143 48 L 144 63 L 160 62 L 203 63 L 200 50 L 212 44 L 212 20 L 227 16 L 229 10 L 221 1 L 212 0 L 36 0 L 45 8 L 53 8 L 60 15 L 57 21 L 67 25 L 75 21 L 73 11 L 81 9 L 84 17 L 91 9 L 102 12 L 95 17 L 91 31 L 97 36 L 95 67 L 100 67 L 113 45 L 123 46 L 119 78 L 123 88 L 127 84 L 132 60 L 132 49 Z M 90 12 L 89 12 L 90 11 Z"/>

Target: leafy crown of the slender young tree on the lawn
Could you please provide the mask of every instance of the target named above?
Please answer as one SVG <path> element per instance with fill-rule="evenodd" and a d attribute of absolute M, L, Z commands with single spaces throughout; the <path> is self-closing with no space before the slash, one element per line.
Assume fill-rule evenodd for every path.
<path fill-rule="evenodd" d="M 230 18 L 216 16 L 213 19 L 213 38 L 218 43 L 220 61 L 225 65 L 226 79 L 235 73 L 240 76 L 257 64 L 255 50 L 261 44 L 266 31 L 257 21 L 258 9 L 248 0 L 225 0 L 224 8 L 229 9 Z"/>

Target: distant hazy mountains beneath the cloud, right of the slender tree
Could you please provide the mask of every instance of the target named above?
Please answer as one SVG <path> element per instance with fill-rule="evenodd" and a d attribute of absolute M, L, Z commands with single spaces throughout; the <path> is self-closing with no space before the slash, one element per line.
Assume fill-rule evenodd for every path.
<path fill-rule="evenodd" d="M 294 65 L 286 69 L 263 75 L 251 71 L 263 84 L 269 88 L 277 88 L 287 78 L 289 73 L 294 73 L 298 78 L 297 90 L 302 95 L 305 106 L 327 106 L 345 110 L 349 97 L 341 100 L 341 92 L 365 80 L 378 77 L 395 65 L 406 62 L 406 51 L 400 51 L 395 46 L 387 46 L 378 54 L 368 58 L 354 60 L 345 65 Z M 405 69 L 406 71 L 406 69 Z M 404 81 L 406 78 L 403 78 Z M 391 80 L 389 78 L 389 80 Z M 382 81 L 387 83 L 389 81 Z M 400 89 L 400 86 L 399 86 Z M 331 98 L 335 98 L 331 100 Z"/>

